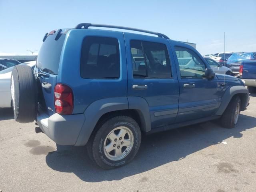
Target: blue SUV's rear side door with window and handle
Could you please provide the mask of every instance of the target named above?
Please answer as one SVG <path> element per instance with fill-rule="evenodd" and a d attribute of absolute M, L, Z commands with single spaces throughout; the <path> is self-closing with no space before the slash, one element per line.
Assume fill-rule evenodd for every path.
<path fill-rule="evenodd" d="M 168 40 L 130 33 L 125 33 L 124 37 L 127 95 L 146 100 L 152 128 L 172 124 L 178 112 L 179 86 Z M 134 63 L 134 58 L 143 60 Z"/>

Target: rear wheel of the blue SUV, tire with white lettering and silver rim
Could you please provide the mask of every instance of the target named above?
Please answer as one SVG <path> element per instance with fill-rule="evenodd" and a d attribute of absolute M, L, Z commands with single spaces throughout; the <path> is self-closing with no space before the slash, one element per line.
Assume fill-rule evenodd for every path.
<path fill-rule="evenodd" d="M 140 148 L 140 127 L 128 116 L 116 116 L 101 124 L 89 142 L 89 156 L 98 166 L 104 169 L 124 166 Z"/>

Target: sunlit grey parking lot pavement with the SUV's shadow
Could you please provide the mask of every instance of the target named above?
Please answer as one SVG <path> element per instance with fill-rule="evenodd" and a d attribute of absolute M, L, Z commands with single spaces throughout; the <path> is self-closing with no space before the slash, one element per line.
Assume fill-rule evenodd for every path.
<path fill-rule="evenodd" d="M 35 124 L 0 109 L 0 190 L 14 191 L 256 191 L 256 94 L 238 126 L 218 120 L 142 136 L 134 160 L 102 170 L 84 147 L 59 146 Z"/>

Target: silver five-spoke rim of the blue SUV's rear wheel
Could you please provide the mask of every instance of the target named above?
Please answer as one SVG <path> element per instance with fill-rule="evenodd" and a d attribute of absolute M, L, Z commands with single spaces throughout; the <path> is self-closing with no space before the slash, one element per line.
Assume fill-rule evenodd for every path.
<path fill-rule="evenodd" d="M 104 141 L 104 154 L 112 161 L 125 158 L 132 150 L 134 136 L 128 127 L 114 128 Z"/>

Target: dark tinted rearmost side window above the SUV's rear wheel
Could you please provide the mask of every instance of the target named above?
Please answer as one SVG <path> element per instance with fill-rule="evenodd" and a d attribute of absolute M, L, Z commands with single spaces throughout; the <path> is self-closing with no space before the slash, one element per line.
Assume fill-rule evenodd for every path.
<path fill-rule="evenodd" d="M 95 36 L 84 38 L 80 75 L 89 79 L 118 79 L 120 77 L 118 40 Z"/>

